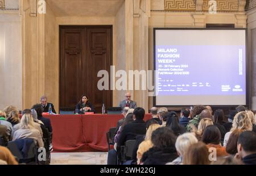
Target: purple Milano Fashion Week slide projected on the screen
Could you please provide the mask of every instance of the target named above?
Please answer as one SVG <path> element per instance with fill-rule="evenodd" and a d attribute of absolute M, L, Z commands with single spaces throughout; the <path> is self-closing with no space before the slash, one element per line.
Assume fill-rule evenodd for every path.
<path fill-rule="evenodd" d="M 158 95 L 245 95 L 246 55 L 240 45 L 156 46 Z"/>

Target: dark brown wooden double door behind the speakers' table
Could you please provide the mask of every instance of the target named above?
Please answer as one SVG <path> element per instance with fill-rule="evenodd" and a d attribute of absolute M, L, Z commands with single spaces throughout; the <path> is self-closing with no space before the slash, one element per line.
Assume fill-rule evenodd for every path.
<path fill-rule="evenodd" d="M 112 106 L 112 91 L 97 87 L 98 71 L 110 74 L 111 65 L 112 26 L 60 26 L 60 110 L 74 110 L 82 95 L 96 113 Z"/>

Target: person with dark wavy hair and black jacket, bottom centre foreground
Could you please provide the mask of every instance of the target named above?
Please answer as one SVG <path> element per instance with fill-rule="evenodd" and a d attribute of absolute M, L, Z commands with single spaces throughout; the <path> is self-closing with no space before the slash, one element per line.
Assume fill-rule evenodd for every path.
<path fill-rule="evenodd" d="M 153 147 L 142 155 L 144 165 L 164 165 L 177 158 L 175 149 L 176 136 L 168 127 L 160 127 L 152 132 Z"/>

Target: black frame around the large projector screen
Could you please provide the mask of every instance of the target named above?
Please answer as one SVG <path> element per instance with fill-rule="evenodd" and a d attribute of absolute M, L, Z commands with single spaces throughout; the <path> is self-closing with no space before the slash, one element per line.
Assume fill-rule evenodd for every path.
<path fill-rule="evenodd" d="M 246 51 L 246 58 L 245 58 L 245 64 L 246 64 L 246 71 L 245 71 L 245 81 L 246 81 L 246 104 L 245 106 L 249 107 L 249 105 L 251 104 L 251 100 L 249 97 L 251 97 L 251 67 L 249 67 L 249 64 L 251 65 L 251 59 L 248 57 L 248 51 L 247 51 L 247 28 L 153 28 L 153 54 L 154 54 L 154 58 L 153 58 L 153 64 L 154 64 L 154 74 L 155 74 L 155 32 L 157 30 L 243 30 L 245 31 L 245 51 Z M 249 61 L 250 60 L 250 61 Z M 155 85 L 155 76 L 153 78 L 153 83 Z M 154 87 L 155 89 L 155 87 Z M 155 90 L 156 91 L 156 90 Z M 153 106 L 155 107 L 166 107 L 166 108 L 185 108 L 188 106 L 195 106 L 195 105 L 156 105 L 156 96 L 153 96 Z M 210 105 L 213 108 L 232 108 L 232 107 L 236 107 L 237 105 Z M 250 107 L 249 107 L 250 108 Z"/>

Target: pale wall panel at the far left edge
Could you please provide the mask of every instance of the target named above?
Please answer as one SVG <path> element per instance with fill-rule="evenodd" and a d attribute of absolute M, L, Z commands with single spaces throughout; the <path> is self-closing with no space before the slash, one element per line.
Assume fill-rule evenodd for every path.
<path fill-rule="evenodd" d="M 22 109 L 21 19 L 18 14 L 0 14 L 0 109 Z"/>

